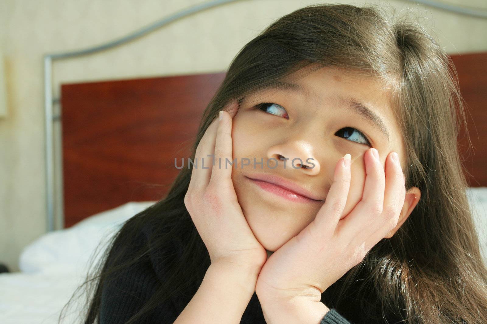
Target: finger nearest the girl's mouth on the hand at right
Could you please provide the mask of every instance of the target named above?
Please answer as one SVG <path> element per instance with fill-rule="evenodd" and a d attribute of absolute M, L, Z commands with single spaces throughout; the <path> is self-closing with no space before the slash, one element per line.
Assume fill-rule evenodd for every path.
<path fill-rule="evenodd" d="M 345 165 L 345 159 L 348 160 Z M 350 154 L 345 154 L 338 160 L 335 166 L 333 183 L 326 195 L 325 203 L 321 206 L 316 215 L 314 222 L 318 229 L 328 229 L 335 231 L 337 223 L 343 213 L 347 203 L 348 191 L 350 189 L 351 171 L 350 171 Z"/>

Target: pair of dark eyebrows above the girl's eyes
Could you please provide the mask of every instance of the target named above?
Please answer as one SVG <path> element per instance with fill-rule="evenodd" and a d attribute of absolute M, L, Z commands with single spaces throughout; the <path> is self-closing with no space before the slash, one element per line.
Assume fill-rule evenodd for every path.
<path fill-rule="evenodd" d="M 306 97 L 310 96 L 310 91 L 307 87 L 304 87 L 299 84 L 289 83 L 284 81 L 275 81 L 271 85 L 265 86 L 265 89 L 277 89 L 277 90 L 287 90 L 292 91 L 297 94 L 305 95 Z M 318 98 L 318 95 L 314 93 L 315 97 Z M 358 115 L 362 119 L 365 119 L 375 125 L 377 129 L 387 138 L 389 142 L 390 136 L 389 131 L 385 123 L 382 119 L 369 107 L 367 107 L 364 103 L 359 102 L 356 98 L 353 97 L 346 97 L 343 98 L 341 96 L 337 96 L 338 103 L 344 105 L 347 110 L 350 112 Z"/>

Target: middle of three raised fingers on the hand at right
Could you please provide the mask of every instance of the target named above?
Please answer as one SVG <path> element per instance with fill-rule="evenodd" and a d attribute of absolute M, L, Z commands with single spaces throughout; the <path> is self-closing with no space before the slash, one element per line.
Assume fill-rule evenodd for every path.
<path fill-rule="evenodd" d="M 385 175 L 382 164 L 374 156 L 374 148 L 364 154 L 365 186 L 362 199 L 352 212 L 342 220 L 340 226 L 343 235 L 356 238 L 365 228 L 372 225 L 382 213 L 384 204 Z M 375 150 L 376 151 L 376 150 Z"/>

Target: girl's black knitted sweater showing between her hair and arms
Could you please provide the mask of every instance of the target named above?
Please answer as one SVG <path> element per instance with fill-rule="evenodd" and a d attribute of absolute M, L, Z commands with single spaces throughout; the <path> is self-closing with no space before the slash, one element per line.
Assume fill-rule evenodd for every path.
<path fill-rule="evenodd" d="M 134 252 L 136 245 L 147 244 L 151 228 L 153 227 L 145 226 L 141 235 L 134 239 L 136 244 L 129 243 L 131 251 L 128 254 Z M 116 248 L 117 241 L 115 241 L 112 250 Z M 180 254 L 182 250 L 182 246 L 176 242 L 171 242 L 167 248 L 175 250 L 177 254 Z M 162 253 L 158 252 L 144 258 L 143 262 L 136 266 L 123 270 L 110 284 L 105 284 L 102 289 L 100 324 L 125 323 L 144 306 L 150 296 L 160 287 L 160 283 L 165 280 L 165 273 L 164 258 Z M 182 305 L 180 300 L 170 298 L 170 302 L 161 303 L 159 307 L 151 310 L 148 316 L 138 323 L 173 323 L 184 307 L 186 305 Z M 241 323 L 265 323 L 262 308 L 255 292 L 244 311 Z M 332 308 L 324 315 L 320 324 L 350 324 L 350 322 Z"/>

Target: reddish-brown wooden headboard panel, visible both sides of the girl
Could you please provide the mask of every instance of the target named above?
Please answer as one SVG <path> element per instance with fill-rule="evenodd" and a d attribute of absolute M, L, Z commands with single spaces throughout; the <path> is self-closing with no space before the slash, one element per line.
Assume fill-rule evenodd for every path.
<path fill-rule="evenodd" d="M 474 151 L 470 187 L 487 186 L 487 52 L 452 56 Z M 61 85 L 64 227 L 130 201 L 157 201 L 186 158 L 225 73 Z"/>

